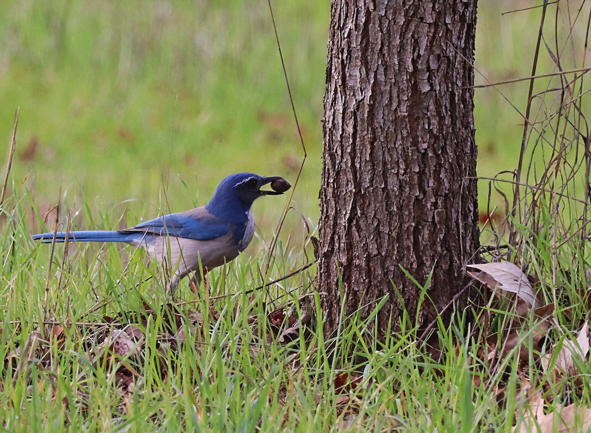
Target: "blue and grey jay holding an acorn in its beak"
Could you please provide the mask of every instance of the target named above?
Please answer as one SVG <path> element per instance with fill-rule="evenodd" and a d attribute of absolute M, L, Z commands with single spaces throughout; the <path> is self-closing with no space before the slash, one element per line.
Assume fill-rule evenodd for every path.
<path fill-rule="evenodd" d="M 271 184 L 273 191 L 261 190 Z M 229 175 L 217 185 L 209 203 L 196 209 L 173 213 L 118 231 L 76 231 L 56 233 L 56 242 L 124 242 L 148 250 L 163 262 L 170 257 L 176 269 L 170 282 L 172 291 L 193 271 L 203 274 L 235 259 L 251 243 L 255 232 L 252 203 L 266 195 L 283 194 L 291 185 L 282 177 L 254 173 Z M 54 233 L 33 235 L 50 243 Z M 170 250 L 169 247 L 170 246 Z"/>

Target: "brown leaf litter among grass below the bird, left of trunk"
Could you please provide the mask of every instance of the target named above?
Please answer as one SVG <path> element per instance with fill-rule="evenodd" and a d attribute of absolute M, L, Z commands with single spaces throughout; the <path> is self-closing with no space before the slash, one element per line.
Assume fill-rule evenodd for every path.
<path fill-rule="evenodd" d="M 7 354 L 5 367 L 8 372 L 12 373 L 13 382 L 17 380 L 31 382 L 31 364 L 35 364 L 38 369 L 51 371 L 59 363 L 60 354 L 64 350 L 66 341 L 74 340 L 75 344 L 82 345 L 81 352 L 86 353 L 87 362 L 94 369 L 103 369 L 109 375 L 114 375 L 115 392 L 123 398 L 118 407 L 113 409 L 113 416 L 116 416 L 126 410 L 125 405 L 135 388 L 135 383 L 144 374 L 142 366 L 146 350 L 145 330 L 150 328 L 148 327 L 149 322 L 154 323 L 157 316 L 163 320 L 165 331 L 159 332 L 157 336 L 157 350 L 160 354 L 158 372 L 161 379 L 166 381 L 168 380 L 168 372 L 173 367 L 167 363 L 167 359 L 170 360 L 170 353 L 178 353 L 180 347 L 187 341 L 189 333 L 196 337 L 194 341 L 197 346 L 206 344 L 204 343 L 204 340 L 207 340 L 205 333 L 213 333 L 215 330 L 212 323 L 216 323 L 220 319 L 220 313 L 217 312 L 213 304 L 209 311 L 205 312 L 209 315 L 209 329 L 204 325 L 206 321 L 202 312 L 180 311 L 176 304 L 164 305 L 160 311 L 144 304 L 144 311 L 143 314 L 121 313 L 117 318 L 105 315 L 98 323 L 85 322 L 68 325 L 52 321 L 43 329 L 37 327 L 21 347 L 17 347 Z M 288 344 L 297 340 L 300 334 L 306 338 L 311 335 L 310 326 L 313 321 L 309 311 L 307 308 L 302 308 L 300 315 L 297 313 L 295 307 L 289 310 L 280 308 L 267 314 L 266 328 L 261 330 L 258 327 L 258 318 L 255 316 L 248 318 L 248 325 L 253 334 L 258 334 L 266 341 L 275 340 L 281 344 Z M 236 311 L 233 311 L 232 314 L 235 316 Z M 20 323 L 16 328 L 17 330 L 20 328 Z M 47 336 L 47 339 L 43 336 Z M 200 341 L 200 338 L 203 341 Z M 251 343 L 251 349 L 255 351 L 259 350 L 258 346 L 260 344 Z M 193 374 L 197 375 L 199 372 L 193 372 Z M 201 380 L 199 377 L 196 379 Z M 210 381 L 213 379 L 213 377 L 209 378 Z M 28 386 L 43 388 L 50 385 L 53 386 L 55 392 L 56 385 L 46 382 L 46 380 L 42 380 L 37 385 L 30 383 Z M 85 383 L 92 383 L 92 380 L 79 380 L 79 388 L 74 390 L 74 395 L 78 396 L 77 404 L 80 405 L 80 410 L 83 413 L 87 412 L 86 401 L 90 394 L 90 389 L 80 386 Z M 65 398 L 63 405 L 69 405 Z M 66 407 L 66 410 L 68 409 Z"/>

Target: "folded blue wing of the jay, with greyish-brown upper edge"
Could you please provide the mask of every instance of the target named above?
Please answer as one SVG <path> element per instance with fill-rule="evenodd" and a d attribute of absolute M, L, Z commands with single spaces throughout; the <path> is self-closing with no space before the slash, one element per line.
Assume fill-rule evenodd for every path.
<path fill-rule="evenodd" d="M 230 226 L 210 214 L 203 207 L 198 207 L 185 212 L 164 215 L 129 229 L 120 230 L 120 232 L 141 232 L 161 236 L 169 235 L 196 240 L 210 240 L 228 235 Z"/>

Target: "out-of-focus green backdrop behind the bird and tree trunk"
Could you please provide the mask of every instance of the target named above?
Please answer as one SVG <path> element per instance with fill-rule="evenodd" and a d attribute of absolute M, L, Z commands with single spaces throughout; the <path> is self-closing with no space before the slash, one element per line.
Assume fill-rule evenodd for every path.
<path fill-rule="evenodd" d="M 541 9 L 502 12 L 532 5 L 479 2 L 476 68 L 491 82 L 530 74 Z M 138 218 L 200 206 L 236 171 L 295 180 L 303 151 L 267 2 L 4 0 L 2 9 L 0 139 L 8 145 L 20 106 L 12 173 L 42 212 L 60 189 L 74 210 Z M 330 4 L 282 0 L 274 12 L 308 150 L 294 206 L 316 223 Z M 476 82 L 486 81 L 476 73 Z M 521 110 L 527 89 L 502 87 Z M 475 103 L 479 175 L 514 169 L 521 117 L 493 88 L 476 90 Z M 482 207 L 488 185 L 479 192 Z M 285 203 L 256 203 L 264 232 Z M 303 230 L 297 213 L 287 224 Z"/>

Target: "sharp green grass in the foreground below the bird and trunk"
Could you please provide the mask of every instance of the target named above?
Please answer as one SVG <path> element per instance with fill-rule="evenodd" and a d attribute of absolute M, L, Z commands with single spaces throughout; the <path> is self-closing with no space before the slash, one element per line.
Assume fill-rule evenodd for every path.
<path fill-rule="evenodd" d="M 262 284 L 259 269 L 264 271 L 267 261 L 258 240 L 255 253 L 213 271 L 198 296 L 181 284 L 176 302 L 190 303 L 178 307 L 170 304 L 157 263 L 142 261 L 138 254 L 125 258 L 112 245 L 72 245 L 65 259 L 59 245 L 50 271 L 51 246 L 28 238 L 24 214 L 37 209 L 26 191 L 17 191 L 22 194 L 10 197 L 5 207 L 11 211 L 5 214 L 7 236 L 0 244 L 0 359 L 5 360 L 0 366 L 0 419 L 7 431 L 399 427 L 418 432 L 461 425 L 462 431 L 510 432 L 515 414 L 528 410 L 524 379 L 551 402 L 547 411 L 573 401 L 591 405 L 586 362 L 577 360 L 576 376 L 553 381 L 536 360 L 550 353 L 551 341 L 563 332 L 569 338 L 586 311 L 580 291 L 585 277 L 573 274 L 576 268 L 566 250 L 556 265 L 551 251 L 527 244 L 533 249 L 528 258 L 537 260 L 525 271 L 548 281 L 553 269 L 559 270 L 560 307 L 551 317 L 560 325 L 550 328 L 544 346 L 536 343 L 537 320 L 525 319 L 517 325 L 519 340 L 530 350 L 525 362 L 519 360 L 518 347 L 499 364 L 498 359 L 489 362 L 492 347 L 504 341 L 502 323 L 512 316 L 509 304 L 491 301 L 477 312 L 476 321 L 460 314 L 449 330 L 440 329 L 436 344 L 443 357 L 436 362 L 417 346 L 420 333 L 407 316 L 398 323 L 402 331 L 393 331 L 383 343 L 364 343 L 372 327 L 358 319 L 347 320 L 335 338 L 323 336 L 319 294 L 297 299 L 311 293 L 314 268 L 269 292 L 248 293 Z M 301 249 L 278 251 L 269 278 L 308 261 Z M 150 276 L 155 278 L 135 287 Z M 294 292 L 285 295 L 286 290 Z M 550 291 L 541 294 L 553 301 Z M 280 341 L 271 323 L 281 325 L 281 312 L 293 306 L 294 317 L 305 311 L 312 320 Z M 272 314 L 275 309 L 278 314 Z M 63 325 L 63 331 L 55 324 L 38 328 L 44 317 Z M 131 326 L 141 338 L 137 351 L 121 356 L 105 346 L 113 331 L 135 329 Z M 486 327 L 501 339 L 487 340 Z"/>

